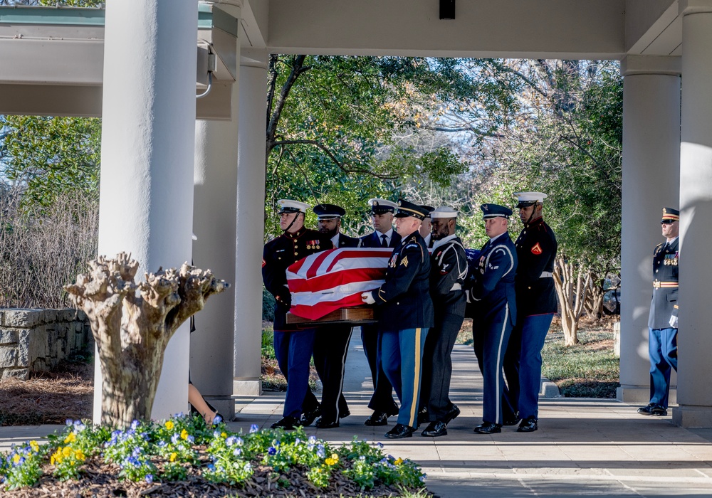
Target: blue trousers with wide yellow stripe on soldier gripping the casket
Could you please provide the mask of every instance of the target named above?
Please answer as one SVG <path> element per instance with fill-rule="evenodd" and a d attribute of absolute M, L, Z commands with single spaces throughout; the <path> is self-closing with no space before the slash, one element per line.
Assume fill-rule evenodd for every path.
<path fill-rule="evenodd" d="M 383 371 L 401 403 L 398 423 L 417 427 L 423 348 L 428 329 L 383 331 L 380 334 Z"/>

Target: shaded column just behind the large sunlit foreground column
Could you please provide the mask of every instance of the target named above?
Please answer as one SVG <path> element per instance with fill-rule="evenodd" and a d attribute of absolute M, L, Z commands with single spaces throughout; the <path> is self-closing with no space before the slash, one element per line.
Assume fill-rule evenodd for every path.
<path fill-rule="evenodd" d="M 239 18 L 240 3 L 221 3 L 229 14 Z M 236 56 L 240 43 L 236 42 Z M 239 68 L 239 65 L 236 65 Z M 236 80 L 238 75 L 235 75 Z M 196 332 L 191 336 L 191 380 L 222 415 L 232 418 L 232 373 L 235 319 L 235 227 L 237 198 L 237 139 L 239 85 L 232 85 L 231 120 L 195 124 L 195 170 L 193 262 L 210 268 L 231 287 L 206 302 L 195 317 Z"/>

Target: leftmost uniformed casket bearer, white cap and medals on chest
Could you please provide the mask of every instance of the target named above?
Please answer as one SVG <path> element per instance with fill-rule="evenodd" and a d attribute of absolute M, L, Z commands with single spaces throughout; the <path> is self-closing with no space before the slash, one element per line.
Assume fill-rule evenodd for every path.
<path fill-rule="evenodd" d="M 288 199 L 277 201 L 282 235 L 265 244 L 262 253 L 262 280 L 275 298 L 274 351 L 279 369 L 287 380 L 283 418 L 272 428 L 293 429 L 303 412 L 315 413 L 319 403 L 309 390 L 309 361 L 314 346 L 314 329 L 297 329 L 287 324 L 291 304 L 287 287 L 287 267 L 306 256 L 331 249 L 328 235 L 304 228 L 308 204 Z"/>

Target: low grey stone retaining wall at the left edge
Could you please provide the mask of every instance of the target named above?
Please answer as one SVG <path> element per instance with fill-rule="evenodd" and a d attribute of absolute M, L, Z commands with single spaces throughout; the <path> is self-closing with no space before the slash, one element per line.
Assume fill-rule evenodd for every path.
<path fill-rule="evenodd" d="M 86 314 L 76 309 L 0 309 L 0 379 L 26 379 L 73 351 L 94 349 Z"/>

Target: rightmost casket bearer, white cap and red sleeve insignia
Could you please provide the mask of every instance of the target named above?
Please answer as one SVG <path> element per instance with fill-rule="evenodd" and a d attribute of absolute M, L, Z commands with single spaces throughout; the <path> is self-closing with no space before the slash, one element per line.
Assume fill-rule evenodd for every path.
<path fill-rule="evenodd" d="M 503 420 L 505 425 L 515 425 L 521 419 L 517 431 L 530 433 L 538 429 L 541 350 L 557 312 L 553 277 L 557 243 L 542 214 L 547 195 L 518 192 L 514 196 L 524 227 L 514 243 L 517 321 L 504 355 Z"/>

